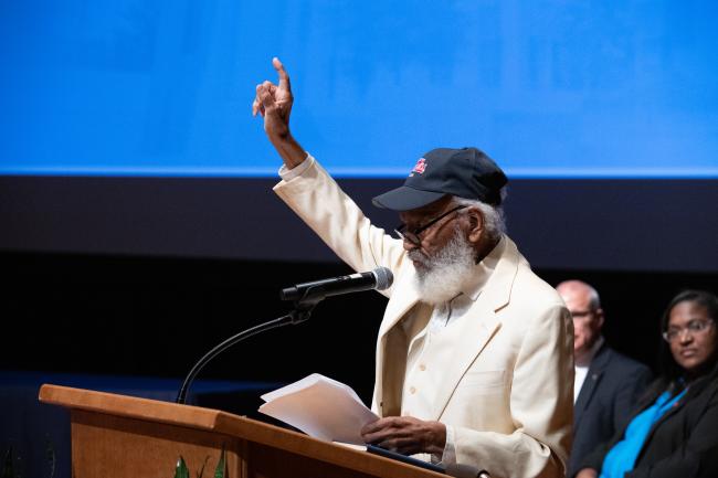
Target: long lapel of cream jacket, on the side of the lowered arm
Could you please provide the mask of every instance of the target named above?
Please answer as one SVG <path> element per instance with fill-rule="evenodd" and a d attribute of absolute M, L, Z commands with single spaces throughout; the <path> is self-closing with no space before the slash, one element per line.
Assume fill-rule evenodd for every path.
<path fill-rule="evenodd" d="M 508 237 L 504 241 L 496 269 L 462 323 L 461 342 L 456 344 L 446 375 L 437 389 L 433 419 L 439 419 L 444 413 L 462 376 L 500 329 L 498 312 L 509 302 L 519 263 L 516 245 Z"/>

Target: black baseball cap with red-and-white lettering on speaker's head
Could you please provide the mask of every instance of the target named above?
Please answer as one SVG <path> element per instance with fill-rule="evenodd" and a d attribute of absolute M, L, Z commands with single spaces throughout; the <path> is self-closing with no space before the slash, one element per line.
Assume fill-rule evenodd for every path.
<path fill-rule="evenodd" d="M 452 194 L 499 205 L 507 182 L 494 160 L 476 148 L 436 148 L 419 159 L 404 185 L 371 202 L 378 208 L 410 211 Z"/>

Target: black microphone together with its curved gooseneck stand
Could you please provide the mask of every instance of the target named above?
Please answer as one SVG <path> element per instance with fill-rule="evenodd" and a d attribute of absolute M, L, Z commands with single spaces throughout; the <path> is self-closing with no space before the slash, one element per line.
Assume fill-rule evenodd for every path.
<path fill-rule="evenodd" d="M 370 289 L 383 290 L 389 288 L 392 282 L 393 275 L 391 274 L 391 270 L 386 267 L 378 267 L 371 273 L 355 274 L 351 276 L 342 276 L 334 279 L 298 284 L 295 287 L 283 289 L 279 294 L 279 297 L 282 300 L 293 300 L 294 310 L 292 310 L 286 316 L 279 317 L 278 319 L 270 320 L 268 322 L 260 323 L 258 326 L 243 330 L 207 352 L 204 357 L 202 357 L 194 364 L 194 367 L 192 367 L 190 373 L 187 374 L 187 378 L 184 379 L 184 382 L 182 382 L 182 386 L 180 387 L 180 391 L 177 394 L 177 400 L 175 400 L 175 402 L 184 403 L 187 400 L 187 392 L 197 374 L 200 373 L 200 370 L 202 370 L 202 368 L 207 365 L 210 360 L 214 359 L 217 355 L 234 346 L 235 343 L 239 343 L 242 340 L 257 333 L 264 332 L 265 330 L 276 329 L 289 323 L 296 326 L 297 323 L 304 322 L 309 318 L 309 316 L 312 316 L 312 311 L 317 306 L 317 304 L 319 304 L 328 296 Z"/>

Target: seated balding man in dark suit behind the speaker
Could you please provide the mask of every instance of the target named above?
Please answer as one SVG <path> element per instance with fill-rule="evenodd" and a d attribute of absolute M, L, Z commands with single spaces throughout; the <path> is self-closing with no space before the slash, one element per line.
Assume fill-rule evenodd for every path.
<path fill-rule="evenodd" d="M 571 477 L 585 455 L 626 424 L 651 380 L 651 370 L 605 344 L 601 336 L 603 310 L 593 287 L 567 280 L 557 290 L 573 318 L 573 447 L 568 469 Z"/>

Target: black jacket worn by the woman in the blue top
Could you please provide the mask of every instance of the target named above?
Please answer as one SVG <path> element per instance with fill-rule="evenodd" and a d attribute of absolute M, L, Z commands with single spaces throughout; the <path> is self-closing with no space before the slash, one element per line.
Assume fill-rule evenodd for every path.
<path fill-rule="evenodd" d="M 716 478 L 718 477 L 718 368 L 700 383 L 691 384 L 656 422 L 632 471 L 625 478 Z M 655 402 L 661 391 L 643 403 Z M 623 438 L 625 428 L 594 450 L 580 468 L 601 469 L 603 458 Z"/>

